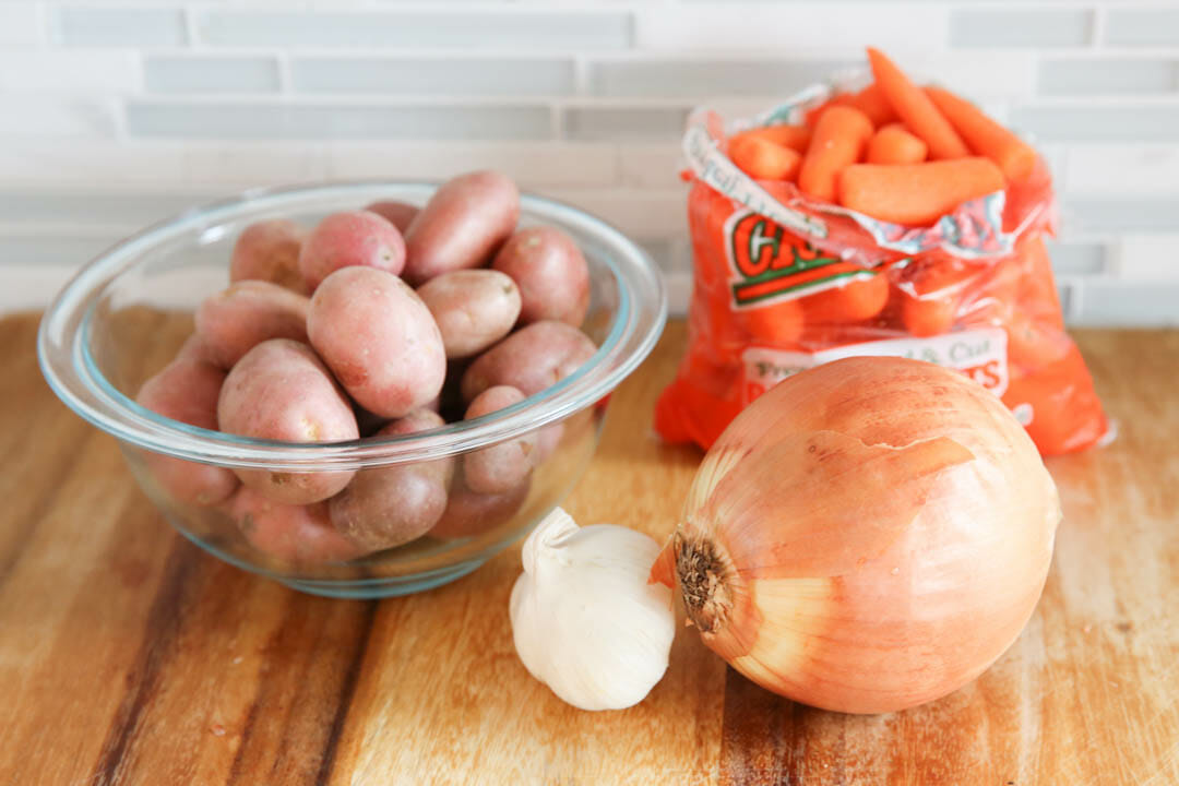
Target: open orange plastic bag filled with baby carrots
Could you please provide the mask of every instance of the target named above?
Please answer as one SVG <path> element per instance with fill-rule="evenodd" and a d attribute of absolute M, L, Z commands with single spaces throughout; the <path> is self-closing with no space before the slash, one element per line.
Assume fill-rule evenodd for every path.
<path fill-rule="evenodd" d="M 815 86 L 731 126 L 689 119 L 689 349 L 656 429 L 709 448 L 797 371 L 897 355 L 994 391 L 1045 455 L 1098 443 L 1108 424 L 1042 240 L 1056 220 L 1043 160 L 870 60 L 858 91 Z"/>

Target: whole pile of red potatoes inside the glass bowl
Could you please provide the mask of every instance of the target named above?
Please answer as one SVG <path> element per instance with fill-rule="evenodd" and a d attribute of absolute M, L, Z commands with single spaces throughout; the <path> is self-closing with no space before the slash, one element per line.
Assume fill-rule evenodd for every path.
<path fill-rule="evenodd" d="M 380 202 L 308 230 L 246 227 L 230 285 L 137 401 L 190 425 L 292 443 L 393 437 L 511 407 L 595 351 L 579 329 L 585 257 L 552 226 L 518 229 L 520 194 L 472 172 L 426 204 Z M 298 564 L 351 560 L 417 537 L 507 521 L 561 424 L 436 461 L 290 473 L 158 454 L 156 486 L 216 507 L 249 543 Z"/>

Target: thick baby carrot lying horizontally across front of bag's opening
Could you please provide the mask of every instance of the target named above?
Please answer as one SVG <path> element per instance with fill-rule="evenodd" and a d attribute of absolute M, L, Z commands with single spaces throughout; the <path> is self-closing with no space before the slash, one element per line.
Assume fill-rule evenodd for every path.
<path fill-rule="evenodd" d="M 883 222 L 927 226 L 959 203 L 1002 187 L 1003 173 L 989 158 L 854 164 L 839 174 L 839 204 Z"/>

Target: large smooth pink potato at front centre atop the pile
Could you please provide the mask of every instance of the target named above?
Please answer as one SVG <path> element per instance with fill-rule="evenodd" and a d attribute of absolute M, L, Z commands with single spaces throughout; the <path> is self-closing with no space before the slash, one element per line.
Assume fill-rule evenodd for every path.
<path fill-rule="evenodd" d="M 414 290 L 374 267 L 343 267 L 311 297 L 311 345 L 364 409 L 401 417 L 439 395 L 442 336 Z"/>

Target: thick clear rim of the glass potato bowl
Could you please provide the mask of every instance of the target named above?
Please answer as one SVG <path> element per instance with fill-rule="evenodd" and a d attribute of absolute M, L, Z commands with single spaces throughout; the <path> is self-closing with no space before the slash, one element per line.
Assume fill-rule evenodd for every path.
<path fill-rule="evenodd" d="M 170 239 L 193 231 L 202 237 L 251 211 L 310 207 L 316 199 L 354 193 L 371 197 L 384 191 L 380 196 L 387 199 L 424 202 L 439 185 L 441 181 L 376 179 L 250 189 L 152 224 L 86 263 L 53 299 L 38 330 L 41 372 L 67 407 L 120 441 L 186 461 L 284 471 L 363 469 L 442 458 L 556 423 L 607 397 L 651 354 L 663 332 L 667 318 L 663 277 L 646 251 L 607 222 L 532 193 L 521 193 L 521 213 L 572 227 L 602 246 L 600 258 L 618 288 L 618 310 L 601 345 L 574 374 L 490 415 L 397 437 L 315 443 L 255 440 L 189 425 L 145 409 L 110 383 L 90 352 L 92 321 L 107 286 Z M 361 196 L 356 199 L 367 204 Z"/>

